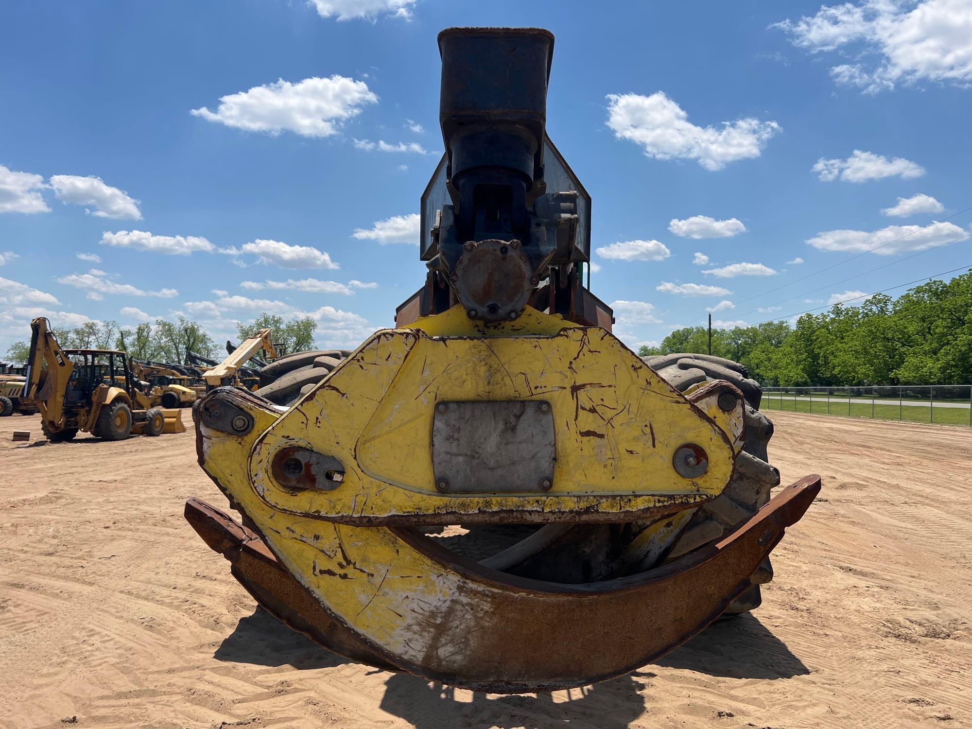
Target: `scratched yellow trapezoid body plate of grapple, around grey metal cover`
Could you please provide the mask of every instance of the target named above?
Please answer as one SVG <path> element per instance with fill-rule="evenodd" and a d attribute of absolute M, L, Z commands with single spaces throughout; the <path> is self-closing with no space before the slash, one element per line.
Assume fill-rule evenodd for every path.
<path fill-rule="evenodd" d="M 692 505 L 722 491 L 733 469 L 731 434 L 618 339 L 532 309 L 518 322 L 480 336 L 484 325 L 457 307 L 414 329 L 377 332 L 260 437 L 250 471 L 262 498 L 324 518 L 445 512 L 458 518 L 506 509 L 631 512 L 672 501 Z M 550 492 L 435 490 L 435 403 L 475 399 L 550 402 L 556 443 Z M 696 479 L 672 466 L 685 443 L 709 454 L 709 470 Z M 270 464 L 293 445 L 337 458 L 346 470 L 343 483 L 330 492 L 281 488 Z"/>

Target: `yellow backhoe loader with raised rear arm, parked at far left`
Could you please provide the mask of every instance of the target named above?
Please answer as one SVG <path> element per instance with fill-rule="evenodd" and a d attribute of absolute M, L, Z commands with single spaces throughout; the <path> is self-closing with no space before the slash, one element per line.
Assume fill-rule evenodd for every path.
<path fill-rule="evenodd" d="M 186 432 L 180 410 L 153 407 L 139 390 L 124 352 L 62 350 L 44 317 L 32 321 L 30 329 L 21 395 L 40 410 L 49 440 L 71 440 L 79 431 L 106 440 Z"/>

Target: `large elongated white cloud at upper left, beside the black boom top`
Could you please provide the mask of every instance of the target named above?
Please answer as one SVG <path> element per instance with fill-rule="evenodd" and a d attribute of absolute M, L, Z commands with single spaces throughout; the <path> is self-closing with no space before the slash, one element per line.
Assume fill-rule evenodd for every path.
<path fill-rule="evenodd" d="M 296 84 L 280 79 L 221 97 L 215 112 L 201 107 L 191 114 L 247 131 L 328 137 L 337 133 L 343 121 L 360 114 L 364 104 L 377 102 L 378 97 L 363 81 L 335 75 Z"/>

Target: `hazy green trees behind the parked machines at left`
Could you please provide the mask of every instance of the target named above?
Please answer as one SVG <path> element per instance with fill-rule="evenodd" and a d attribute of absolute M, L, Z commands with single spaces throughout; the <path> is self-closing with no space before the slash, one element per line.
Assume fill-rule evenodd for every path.
<path fill-rule="evenodd" d="M 237 325 L 241 340 L 264 328 L 272 330 L 273 341 L 287 353 L 315 347 L 317 322 L 310 317 L 286 321 L 263 313 L 253 324 Z M 53 328 L 53 332 L 62 349 L 118 349 L 135 360 L 187 364 L 189 352 L 214 360 L 226 357 L 222 343 L 214 341 L 200 324 L 184 317 L 177 321 L 156 319 L 135 327 L 121 327 L 114 320 L 91 321 L 73 329 Z M 8 364 L 25 364 L 29 354 L 29 341 L 17 341 L 7 350 Z"/>

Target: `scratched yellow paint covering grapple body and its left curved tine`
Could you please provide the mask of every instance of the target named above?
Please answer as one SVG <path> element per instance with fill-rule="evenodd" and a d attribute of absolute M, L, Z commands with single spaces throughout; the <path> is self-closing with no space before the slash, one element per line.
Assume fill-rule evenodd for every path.
<path fill-rule="evenodd" d="M 210 431 L 200 424 L 203 468 L 253 519 L 281 563 L 354 633 L 393 661 L 413 664 L 428 663 L 433 654 L 439 657 L 443 647 L 466 649 L 462 646 L 469 645 L 469 625 L 481 619 L 484 606 L 503 599 L 506 588 L 457 573 L 390 529 L 337 524 L 317 516 L 510 504 L 572 508 L 599 499 L 605 510 L 620 504 L 641 507 L 686 491 L 665 471 L 671 470 L 671 448 L 689 440 L 707 448 L 711 474 L 715 471 L 690 487 L 697 489 L 696 497 L 717 493 L 732 470 L 729 436 L 613 337 L 593 335 L 595 330 L 530 311 L 524 319 L 533 333 L 503 326 L 474 334 L 463 329 L 465 315 L 452 314 L 439 315 L 445 318 L 438 322 L 422 321 L 413 330 L 378 332 L 284 417 L 254 404 L 248 411 L 255 428 L 245 436 Z M 603 364 L 594 363 L 596 358 Z M 502 361 L 503 367 L 489 364 L 492 361 Z M 514 372 L 525 372 L 526 377 Z M 477 381 L 478 377 L 485 379 Z M 584 387 L 576 391 L 577 398 L 570 396 L 571 383 L 588 382 L 610 387 Z M 435 400 L 477 397 L 547 399 L 553 404 L 559 423 L 558 468 L 563 462 L 573 468 L 573 473 L 565 469 L 555 475 L 555 493 L 475 499 L 428 493 L 431 482 L 422 479 L 431 479 L 432 467 L 428 451 L 422 449 L 428 447 Z M 607 424 L 608 412 L 625 414 L 614 415 Z M 642 452 L 648 444 L 642 416 L 650 418 L 655 437 L 647 454 Z M 589 428 L 606 436 L 579 434 Z M 651 429 L 647 438 L 650 434 Z M 630 443 L 642 451 L 619 457 L 617 449 Z M 327 494 L 282 492 L 268 475 L 268 465 L 283 444 L 303 444 L 337 456 L 347 469 L 347 480 Z M 574 446 L 577 454 L 569 452 Z M 387 453 L 395 448 L 404 450 L 394 456 Z M 637 465 L 642 473 L 636 472 Z M 657 493 L 605 498 L 611 489 L 617 490 L 609 475 L 614 481 L 627 478 L 629 488 Z M 670 490 L 659 489 L 659 484 Z M 572 490 L 590 493 L 572 496 Z M 686 503 L 691 505 L 690 500 Z M 691 510 L 679 513 L 687 518 Z M 681 518 L 669 521 L 674 525 Z M 647 548 L 652 535 L 661 537 L 675 528 L 657 524 L 661 526 L 650 527 L 633 548 Z M 515 598 L 524 605 L 538 603 L 527 610 L 537 614 L 544 612 L 543 601 L 551 599 L 542 592 L 520 591 Z M 443 614 L 449 615 L 445 623 L 437 619 Z"/>

